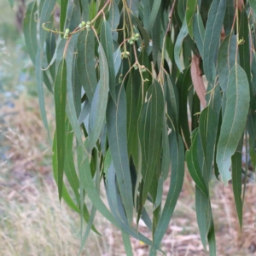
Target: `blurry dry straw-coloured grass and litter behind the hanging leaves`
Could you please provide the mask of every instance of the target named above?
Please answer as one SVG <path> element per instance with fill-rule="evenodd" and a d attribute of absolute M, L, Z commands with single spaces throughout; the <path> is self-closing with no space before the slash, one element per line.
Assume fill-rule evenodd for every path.
<path fill-rule="evenodd" d="M 49 123 L 53 124 L 52 103 L 47 101 Z M 1 141 L 8 148 L 6 160 L 0 163 L 0 255 L 76 255 L 79 215 L 63 202 L 60 207 L 58 202 L 51 175 L 51 149 L 40 121 L 37 99 L 23 94 L 15 101 L 15 108 L 2 108 L 0 112 Z M 168 184 L 165 195 L 167 189 Z M 166 255 L 207 255 L 196 224 L 194 189 L 187 174 L 162 241 Z M 212 184 L 218 255 L 256 255 L 255 195 L 256 186 L 249 183 L 240 232 L 231 184 L 226 188 L 220 183 Z M 102 236 L 91 233 L 83 255 L 125 255 L 119 230 L 100 215 L 96 216 L 96 228 Z M 143 222 L 139 230 L 151 237 Z M 131 244 L 134 255 L 148 255 L 148 247 L 143 243 L 131 238 Z"/>

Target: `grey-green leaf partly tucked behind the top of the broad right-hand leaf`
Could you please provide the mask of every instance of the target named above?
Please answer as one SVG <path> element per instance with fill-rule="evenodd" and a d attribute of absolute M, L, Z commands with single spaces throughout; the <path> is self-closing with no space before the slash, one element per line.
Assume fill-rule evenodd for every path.
<path fill-rule="evenodd" d="M 218 49 L 218 81 L 223 91 L 227 90 L 228 74 L 236 62 L 236 36 L 228 35 Z"/>

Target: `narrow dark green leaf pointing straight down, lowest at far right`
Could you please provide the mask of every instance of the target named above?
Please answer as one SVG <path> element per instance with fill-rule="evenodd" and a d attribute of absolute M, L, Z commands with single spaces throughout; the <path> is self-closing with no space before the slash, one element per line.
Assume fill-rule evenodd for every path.
<path fill-rule="evenodd" d="M 242 202 L 241 202 L 241 152 L 232 155 L 232 184 L 236 202 L 236 212 L 240 224 L 242 226 Z"/>

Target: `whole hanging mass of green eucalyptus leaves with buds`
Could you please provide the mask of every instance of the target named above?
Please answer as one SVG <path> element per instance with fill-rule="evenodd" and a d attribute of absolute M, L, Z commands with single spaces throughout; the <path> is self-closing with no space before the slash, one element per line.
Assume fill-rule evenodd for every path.
<path fill-rule="evenodd" d="M 210 254 L 216 255 L 213 176 L 225 184 L 232 179 L 242 224 L 244 140 L 253 163 L 256 157 L 255 19 L 255 0 L 28 4 L 24 34 L 46 129 L 44 84 L 55 99 L 59 198 L 87 223 L 82 246 L 91 229 L 98 233 L 98 211 L 122 231 L 127 255 L 129 236 L 147 244 L 150 255 L 161 251 L 185 163 L 195 181 L 201 241 Z M 141 218 L 151 239 L 137 230 Z"/>

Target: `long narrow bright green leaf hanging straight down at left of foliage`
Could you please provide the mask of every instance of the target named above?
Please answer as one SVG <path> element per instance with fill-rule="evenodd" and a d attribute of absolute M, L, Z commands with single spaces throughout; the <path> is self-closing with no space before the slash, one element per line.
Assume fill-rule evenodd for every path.
<path fill-rule="evenodd" d="M 66 148 L 66 98 L 67 98 L 67 64 L 65 59 L 62 59 L 55 78 L 55 122 L 56 122 L 56 147 L 57 147 L 57 170 L 58 170 L 58 190 L 59 199 L 61 201 L 63 187 L 63 172 L 65 162 Z"/>

